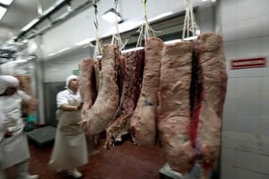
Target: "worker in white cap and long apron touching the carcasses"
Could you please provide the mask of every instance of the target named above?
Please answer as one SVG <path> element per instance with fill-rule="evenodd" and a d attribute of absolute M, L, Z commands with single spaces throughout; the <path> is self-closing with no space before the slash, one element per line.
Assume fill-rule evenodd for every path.
<path fill-rule="evenodd" d="M 77 167 L 87 164 L 88 154 L 86 136 L 80 125 L 82 103 L 78 77 L 67 77 L 65 88 L 56 95 L 58 124 L 49 166 L 80 178 L 82 174 Z"/>

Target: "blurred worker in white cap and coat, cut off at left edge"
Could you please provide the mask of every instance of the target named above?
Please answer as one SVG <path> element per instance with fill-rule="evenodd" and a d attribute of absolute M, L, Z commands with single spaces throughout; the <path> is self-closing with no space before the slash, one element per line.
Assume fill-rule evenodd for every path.
<path fill-rule="evenodd" d="M 16 179 L 34 179 L 39 175 L 29 175 L 30 151 L 22 120 L 22 102 L 30 101 L 30 96 L 18 90 L 19 81 L 10 75 L 0 76 L 0 158 L 1 171 L 14 166 Z M 3 176 L 4 177 L 4 176 Z"/>

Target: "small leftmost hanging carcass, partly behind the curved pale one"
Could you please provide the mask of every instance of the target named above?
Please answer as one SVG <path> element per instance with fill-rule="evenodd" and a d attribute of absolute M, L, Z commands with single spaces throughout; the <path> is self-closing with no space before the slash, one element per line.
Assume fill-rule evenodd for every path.
<path fill-rule="evenodd" d="M 79 64 L 80 69 L 80 94 L 82 97 L 82 118 L 84 118 L 91 109 L 96 96 L 96 76 L 95 76 L 95 61 L 93 59 L 84 59 Z"/>

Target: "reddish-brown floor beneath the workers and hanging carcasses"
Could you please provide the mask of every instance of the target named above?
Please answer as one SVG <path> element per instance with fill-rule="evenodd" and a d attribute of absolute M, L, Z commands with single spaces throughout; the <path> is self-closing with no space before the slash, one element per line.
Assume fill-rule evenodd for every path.
<path fill-rule="evenodd" d="M 48 167 L 52 146 L 51 143 L 41 148 L 30 142 L 30 174 L 38 174 L 41 179 L 70 178 Z M 158 179 L 159 169 L 165 162 L 159 148 L 136 147 L 126 141 L 108 150 L 95 150 L 89 156 L 89 163 L 81 166 L 79 171 L 82 178 L 87 179 Z M 13 179 L 13 168 L 8 169 L 7 178 Z"/>

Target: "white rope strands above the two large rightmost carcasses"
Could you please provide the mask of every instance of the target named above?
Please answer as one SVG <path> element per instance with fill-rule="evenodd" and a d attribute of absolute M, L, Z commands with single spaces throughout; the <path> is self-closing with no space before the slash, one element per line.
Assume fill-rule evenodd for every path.
<path fill-rule="evenodd" d="M 195 21 L 195 13 L 191 0 L 186 0 L 186 2 L 187 6 L 186 6 L 182 39 L 190 37 L 190 32 L 192 36 L 199 35 L 198 33 L 200 33 L 199 27 L 197 26 Z"/>

